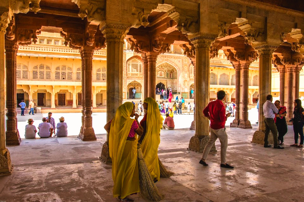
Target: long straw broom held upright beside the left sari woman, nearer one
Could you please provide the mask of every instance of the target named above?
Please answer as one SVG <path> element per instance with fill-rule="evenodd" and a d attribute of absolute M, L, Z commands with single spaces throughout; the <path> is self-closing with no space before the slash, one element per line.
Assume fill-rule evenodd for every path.
<path fill-rule="evenodd" d="M 137 157 L 139 168 L 139 186 L 140 195 L 148 200 L 160 201 L 163 196 L 158 191 L 150 173 L 148 167 L 143 159 L 140 143 L 137 144 Z"/>

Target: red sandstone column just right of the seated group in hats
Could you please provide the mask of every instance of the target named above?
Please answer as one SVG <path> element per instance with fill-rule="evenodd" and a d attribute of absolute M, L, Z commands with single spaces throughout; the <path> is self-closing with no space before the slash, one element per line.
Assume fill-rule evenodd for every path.
<path fill-rule="evenodd" d="M 82 60 L 82 69 L 84 86 L 83 86 L 83 125 L 79 137 L 83 141 L 96 140 L 95 132 L 92 127 L 92 70 L 93 70 L 93 53 L 94 47 L 82 46 L 80 55 Z"/>

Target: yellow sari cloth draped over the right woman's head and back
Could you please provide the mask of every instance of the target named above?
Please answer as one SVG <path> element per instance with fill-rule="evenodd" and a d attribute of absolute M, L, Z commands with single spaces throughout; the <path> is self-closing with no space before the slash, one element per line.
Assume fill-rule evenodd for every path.
<path fill-rule="evenodd" d="M 151 177 L 160 180 L 160 166 L 157 152 L 161 141 L 162 116 L 155 99 L 147 97 L 143 102 L 148 104 L 148 110 L 146 134 L 141 142 L 141 149 Z"/>

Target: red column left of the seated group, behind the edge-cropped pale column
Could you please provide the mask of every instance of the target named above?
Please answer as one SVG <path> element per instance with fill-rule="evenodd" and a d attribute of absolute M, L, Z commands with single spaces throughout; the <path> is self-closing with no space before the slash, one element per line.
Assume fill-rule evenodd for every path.
<path fill-rule="evenodd" d="M 18 51 L 18 42 L 15 40 L 5 40 L 6 51 L 6 107 L 7 111 L 7 145 L 20 145 L 21 138 L 17 129 L 17 79 L 16 79 L 16 57 Z"/>

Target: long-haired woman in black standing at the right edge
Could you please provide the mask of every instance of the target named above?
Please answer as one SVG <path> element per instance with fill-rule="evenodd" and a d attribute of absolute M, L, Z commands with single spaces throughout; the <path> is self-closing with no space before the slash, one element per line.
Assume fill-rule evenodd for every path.
<path fill-rule="evenodd" d="M 291 144 L 290 146 L 303 147 L 304 109 L 302 108 L 302 102 L 300 99 L 294 100 L 293 118 L 291 121 L 293 124 L 294 144 Z M 299 135 L 300 144 L 298 145 Z"/>

